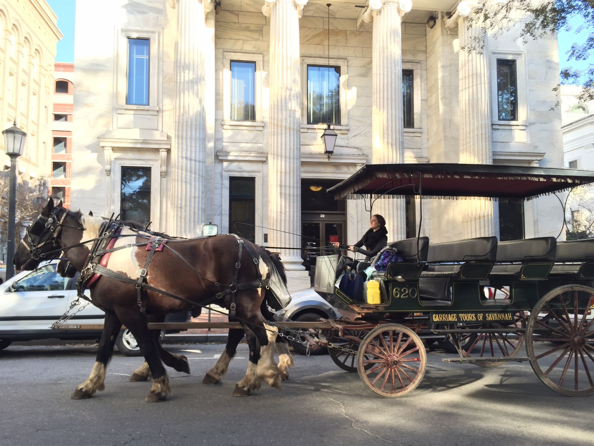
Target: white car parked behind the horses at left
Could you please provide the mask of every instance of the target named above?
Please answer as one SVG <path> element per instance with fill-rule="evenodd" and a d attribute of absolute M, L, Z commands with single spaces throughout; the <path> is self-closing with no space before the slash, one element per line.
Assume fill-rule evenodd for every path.
<path fill-rule="evenodd" d="M 61 277 L 56 272 L 58 261 L 42 263 L 35 271 L 23 271 L 0 285 L 0 350 L 14 341 L 58 338 L 61 340 L 98 340 L 101 329 L 52 329 L 77 299 L 76 277 Z M 89 291 L 87 290 L 87 295 Z M 81 306 L 86 300 L 81 299 Z M 76 312 L 81 306 L 74 307 Z M 187 322 L 189 312 L 175 313 L 168 322 Z M 93 304 L 77 312 L 68 325 L 103 324 L 105 315 Z M 118 350 L 127 356 L 140 356 L 140 348 L 127 329 L 121 330 L 116 340 Z"/>

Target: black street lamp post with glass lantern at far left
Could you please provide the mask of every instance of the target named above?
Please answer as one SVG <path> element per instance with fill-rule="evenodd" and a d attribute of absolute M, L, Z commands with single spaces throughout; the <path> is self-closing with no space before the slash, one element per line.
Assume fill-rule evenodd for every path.
<path fill-rule="evenodd" d="M 6 154 L 10 156 L 10 183 L 8 193 L 8 234 L 7 234 L 7 259 L 6 279 L 14 276 L 14 223 L 17 218 L 17 158 L 23 155 L 27 134 L 17 127 L 17 121 L 11 128 L 2 131 L 4 135 L 4 147 Z"/>

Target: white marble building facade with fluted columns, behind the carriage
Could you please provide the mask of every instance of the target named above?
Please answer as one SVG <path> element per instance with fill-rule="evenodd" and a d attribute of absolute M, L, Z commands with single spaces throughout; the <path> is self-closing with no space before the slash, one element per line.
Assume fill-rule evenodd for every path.
<path fill-rule="evenodd" d="M 556 36 L 524 44 L 510 30 L 469 55 L 460 51 L 478 33 L 469 14 L 472 2 L 456 0 L 110 0 L 99 10 L 78 1 L 72 206 L 128 212 L 141 184 L 153 228 L 192 236 L 212 222 L 233 232 L 239 209 L 256 243 L 295 248 L 305 222 L 322 227 L 327 216 L 340 221 L 341 242 L 361 237 L 364 200 L 323 212 L 302 188 L 371 162 L 560 167 Z M 500 68 L 513 71 L 510 116 L 497 99 L 511 91 Z M 139 70 L 144 90 L 131 76 Z M 333 76 L 334 89 L 327 77 L 327 90 L 312 91 L 315 73 Z M 331 102 L 323 119 L 321 93 Z M 330 117 L 338 136 L 328 159 L 320 137 Z M 374 205 L 390 238 L 416 232 L 413 203 Z M 554 197 L 525 203 L 522 235 L 557 235 L 554 206 Z M 432 200 L 421 231 L 433 241 L 500 235 L 498 220 L 497 203 Z M 304 269 L 299 250 L 274 250 L 295 275 Z"/>

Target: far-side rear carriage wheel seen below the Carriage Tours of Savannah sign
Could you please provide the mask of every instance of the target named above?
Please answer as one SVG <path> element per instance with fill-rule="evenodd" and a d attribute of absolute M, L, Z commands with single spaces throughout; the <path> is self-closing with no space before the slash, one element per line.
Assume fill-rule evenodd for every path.
<path fill-rule="evenodd" d="M 489 328 L 489 329 L 519 329 L 517 332 L 485 332 L 485 333 L 450 333 L 448 338 L 454 344 L 458 354 L 462 358 L 484 358 L 500 356 L 517 356 L 524 344 L 524 328 L 526 327 L 526 312 L 512 312 L 514 322 L 481 323 L 476 325 L 464 325 L 464 328 Z M 481 367 L 497 367 L 503 362 L 476 363 Z"/>

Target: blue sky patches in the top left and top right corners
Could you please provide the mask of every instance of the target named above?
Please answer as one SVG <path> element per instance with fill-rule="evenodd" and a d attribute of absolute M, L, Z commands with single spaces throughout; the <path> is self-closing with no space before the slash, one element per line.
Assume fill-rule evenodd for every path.
<path fill-rule="evenodd" d="M 58 16 L 58 28 L 64 34 L 64 39 L 58 42 L 56 62 L 74 62 L 74 9 L 76 0 L 47 0 L 53 12 Z M 560 68 L 573 67 L 574 70 L 584 70 L 589 64 L 594 64 L 594 55 L 589 61 L 567 61 L 567 51 L 576 41 L 586 40 L 588 33 L 593 32 L 592 26 L 582 30 L 576 36 L 576 30 L 582 24 L 581 17 L 570 21 L 570 29 L 559 33 L 559 61 Z"/>

